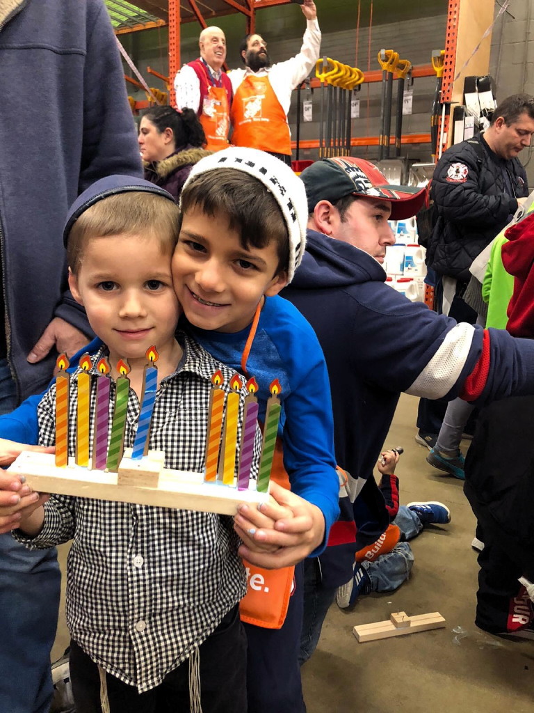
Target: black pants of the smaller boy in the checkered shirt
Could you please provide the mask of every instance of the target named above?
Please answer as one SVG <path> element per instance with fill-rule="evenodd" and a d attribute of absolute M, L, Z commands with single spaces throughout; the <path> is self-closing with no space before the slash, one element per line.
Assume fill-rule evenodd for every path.
<path fill-rule="evenodd" d="M 246 713 L 246 636 L 234 607 L 200 646 L 203 713 Z M 101 713 L 97 665 L 70 642 L 70 680 L 77 713 Z M 137 688 L 106 674 L 111 713 L 189 713 L 189 660 L 171 671 L 161 685 Z"/>

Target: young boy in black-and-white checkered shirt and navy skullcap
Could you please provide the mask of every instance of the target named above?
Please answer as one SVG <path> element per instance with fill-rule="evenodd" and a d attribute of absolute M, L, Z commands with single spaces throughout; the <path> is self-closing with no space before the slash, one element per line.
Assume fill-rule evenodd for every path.
<path fill-rule="evenodd" d="M 211 375 L 220 369 L 221 388 L 228 391 L 234 371 L 177 331 L 181 309 L 171 257 L 178 218 L 163 190 L 112 176 L 76 200 L 65 238 L 71 292 L 98 334 L 88 347 L 90 372 L 98 374 L 102 356 L 113 379 L 119 359 L 130 364 L 125 444 L 135 437 L 145 352 L 154 344 L 159 388 L 150 447 L 164 451 L 167 468 L 198 472 L 204 466 Z M 70 379 L 70 456 L 78 371 Z M 38 406 L 42 446 L 55 440 L 55 401 L 52 386 Z M 256 456 L 258 445 L 259 439 Z M 246 712 L 246 637 L 239 620 L 246 577 L 231 518 L 31 493 L 21 499 L 10 526 L 18 527 L 14 534 L 28 548 L 73 540 L 66 615 L 79 713 L 100 712 L 106 703 L 112 713 L 181 709 L 190 689 L 192 708 L 201 700 L 204 712 Z M 198 684 L 200 696 L 194 694 Z"/>

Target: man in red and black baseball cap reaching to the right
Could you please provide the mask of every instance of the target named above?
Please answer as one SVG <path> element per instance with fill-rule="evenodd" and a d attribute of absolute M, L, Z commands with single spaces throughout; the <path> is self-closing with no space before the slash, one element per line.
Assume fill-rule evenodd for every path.
<path fill-rule="evenodd" d="M 525 364 L 534 364 L 534 341 L 457 324 L 385 284 L 382 262 L 394 243 L 387 221 L 414 215 L 424 190 L 389 185 L 374 165 L 349 157 L 319 160 L 300 178 L 308 197 L 306 249 L 281 294 L 308 319 L 325 353 L 335 456 L 356 481 L 356 553 L 389 524 L 384 498 L 370 476 L 401 392 L 447 401 L 461 396 L 477 406 L 531 393 L 534 371 Z M 336 525 L 329 544 L 345 542 L 350 533 L 347 523 Z M 331 553 L 339 549 L 328 547 L 319 558 L 305 560 L 308 655 L 310 637 L 318 641 L 337 586 L 350 580 L 357 586 L 354 561 L 332 561 L 337 555 Z"/>

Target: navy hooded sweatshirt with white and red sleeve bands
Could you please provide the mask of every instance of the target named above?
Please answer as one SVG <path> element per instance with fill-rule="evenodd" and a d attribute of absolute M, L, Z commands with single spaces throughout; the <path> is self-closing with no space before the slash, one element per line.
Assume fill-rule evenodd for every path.
<path fill-rule="evenodd" d="M 281 294 L 308 319 L 323 347 L 335 456 L 353 477 L 367 481 L 372 474 L 402 391 L 431 399 L 460 395 L 476 404 L 534 393 L 531 340 L 456 324 L 389 287 L 382 265 L 363 250 L 313 230 L 307 241 L 303 262 Z M 363 512 L 357 519 L 367 544 L 389 518 L 374 478 L 362 494 L 367 498 L 358 498 Z"/>

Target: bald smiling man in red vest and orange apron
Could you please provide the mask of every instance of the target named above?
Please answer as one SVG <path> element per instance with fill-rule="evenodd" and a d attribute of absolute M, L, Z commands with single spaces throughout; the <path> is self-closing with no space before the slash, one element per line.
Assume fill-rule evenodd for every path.
<path fill-rule="evenodd" d="M 200 57 L 184 64 L 174 78 L 177 109 L 191 108 L 199 115 L 206 148 L 219 151 L 228 144 L 233 91 L 226 72 L 226 39 L 219 27 L 206 27 L 199 36 Z"/>

